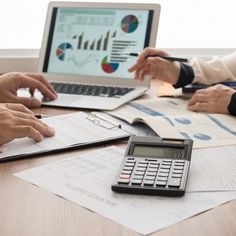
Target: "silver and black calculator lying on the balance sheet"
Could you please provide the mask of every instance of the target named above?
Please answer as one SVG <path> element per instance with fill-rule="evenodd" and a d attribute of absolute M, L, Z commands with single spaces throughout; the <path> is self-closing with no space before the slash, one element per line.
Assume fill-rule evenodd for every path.
<path fill-rule="evenodd" d="M 191 139 L 131 136 L 112 191 L 184 195 L 192 145 Z"/>

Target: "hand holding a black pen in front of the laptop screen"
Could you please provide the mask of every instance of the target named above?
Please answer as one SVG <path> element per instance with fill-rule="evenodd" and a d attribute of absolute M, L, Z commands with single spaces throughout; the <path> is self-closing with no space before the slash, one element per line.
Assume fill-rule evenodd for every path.
<path fill-rule="evenodd" d="M 139 55 L 135 65 L 129 68 L 129 72 L 135 72 L 135 79 L 143 80 L 145 75 L 153 79 L 162 80 L 172 85 L 176 84 L 180 74 L 180 64 L 160 57 L 148 57 L 150 55 L 168 56 L 168 53 L 155 48 L 146 48 Z"/>

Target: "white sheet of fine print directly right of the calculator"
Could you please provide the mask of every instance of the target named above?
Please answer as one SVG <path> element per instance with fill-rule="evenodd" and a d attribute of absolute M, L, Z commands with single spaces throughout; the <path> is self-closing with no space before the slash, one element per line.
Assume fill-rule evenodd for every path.
<path fill-rule="evenodd" d="M 193 150 L 188 192 L 236 191 L 236 146 Z"/>

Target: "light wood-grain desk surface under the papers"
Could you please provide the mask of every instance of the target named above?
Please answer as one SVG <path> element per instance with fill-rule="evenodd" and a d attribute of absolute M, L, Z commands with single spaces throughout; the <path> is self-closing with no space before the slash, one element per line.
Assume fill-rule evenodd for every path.
<path fill-rule="evenodd" d="M 148 96 L 155 96 L 151 89 Z M 72 109 L 40 108 L 57 115 Z M 116 145 L 122 145 L 116 143 Z M 91 149 L 91 148 L 90 148 Z M 81 153 L 88 148 L 70 151 Z M 66 153 L 0 164 L 1 236 L 137 236 L 139 234 L 100 215 L 31 185 L 13 173 L 65 158 Z M 158 220 L 158 219 L 157 219 Z M 148 223 L 148 222 L 145 222 Z M 236 200 L 153 233 L 155 236 L 236 235 Z"/>

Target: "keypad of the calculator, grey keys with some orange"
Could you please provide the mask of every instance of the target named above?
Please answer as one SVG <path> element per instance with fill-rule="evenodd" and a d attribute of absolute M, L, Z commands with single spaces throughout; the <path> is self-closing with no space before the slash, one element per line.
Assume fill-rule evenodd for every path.
<path fill-rule="evenodd" d="M 155 187 L 180 188 L 188 160 L 175 159 L 126 159 L 118 184 Z"/>

